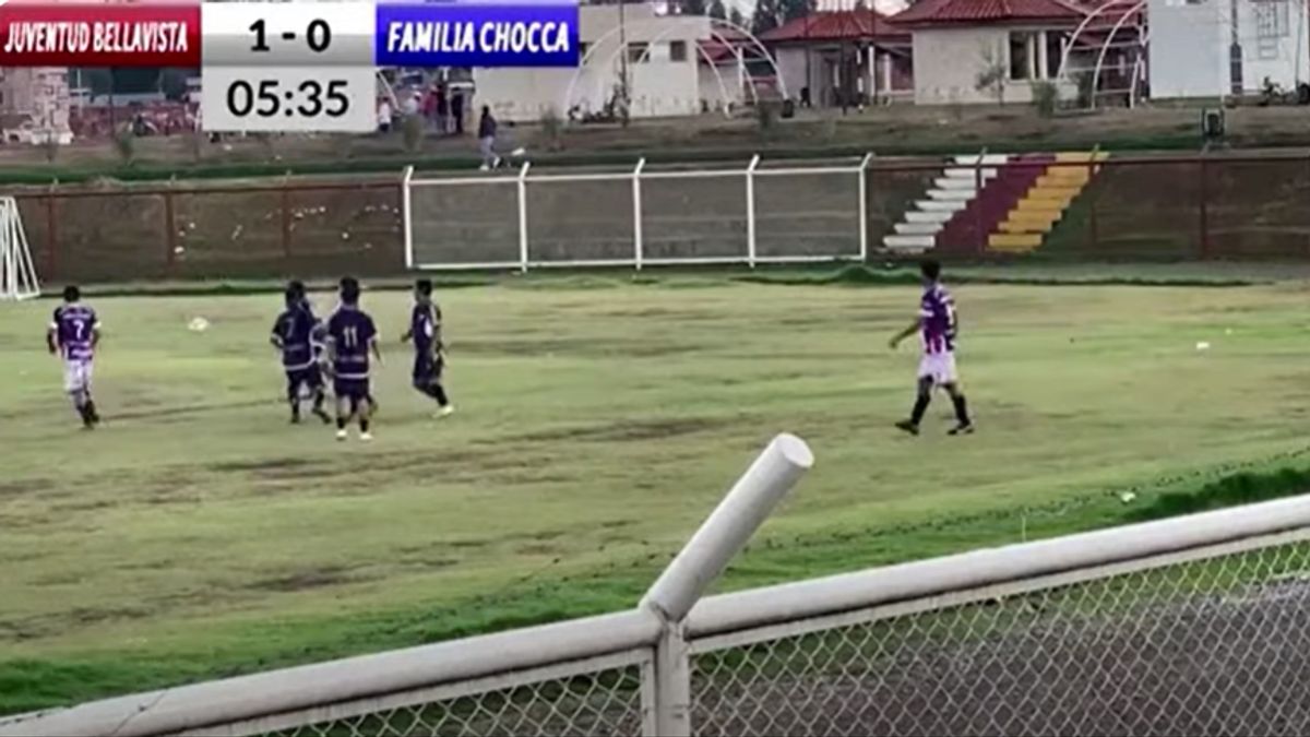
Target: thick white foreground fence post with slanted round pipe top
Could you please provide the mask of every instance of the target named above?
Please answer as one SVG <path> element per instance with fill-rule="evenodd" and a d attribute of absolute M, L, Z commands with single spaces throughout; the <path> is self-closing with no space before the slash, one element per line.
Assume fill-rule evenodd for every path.
<path fill-rule="evenodd" d="M 692 664 L 683 620 L 811 466 L 814 454 L 804 441 L 773 438 L 642 598 L 639 607 L 664 623 L 655 645 L 655 724 L 662 737 L 692 730 Z"/>

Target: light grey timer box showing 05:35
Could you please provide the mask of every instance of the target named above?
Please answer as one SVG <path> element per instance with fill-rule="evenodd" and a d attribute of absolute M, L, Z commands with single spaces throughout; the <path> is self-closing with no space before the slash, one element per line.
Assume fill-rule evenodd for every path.
<path fill-rule="evenodd" d="M 373 67 L 210 67 L 200 125 L 216 132 L 372 132 Z"/>

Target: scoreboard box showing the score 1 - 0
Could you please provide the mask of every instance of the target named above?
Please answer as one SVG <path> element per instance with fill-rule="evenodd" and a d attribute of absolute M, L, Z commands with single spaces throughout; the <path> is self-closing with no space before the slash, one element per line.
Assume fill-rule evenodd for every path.
<path fill-rule="evenodd" d="M 372 67 L 372 3 L 204 3 L 202 64 Z"/>

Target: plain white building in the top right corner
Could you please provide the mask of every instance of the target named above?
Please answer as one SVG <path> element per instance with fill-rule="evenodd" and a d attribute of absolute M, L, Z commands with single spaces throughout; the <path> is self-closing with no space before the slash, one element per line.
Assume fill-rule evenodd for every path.
<path fill-rule="evenodd" d="M 1151 98 L 1251 94 L 1265 79 L 1289 90 L 1310 81 L 1303 0 L 1149 0 L 1148 18 Z"/>

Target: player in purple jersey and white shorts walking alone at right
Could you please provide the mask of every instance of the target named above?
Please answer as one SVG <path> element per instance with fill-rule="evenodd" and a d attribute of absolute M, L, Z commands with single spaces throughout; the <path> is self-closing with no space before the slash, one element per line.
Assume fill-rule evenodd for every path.
<path fill-rule="evenodd" d="M 903 340 L 914 333 L 921 333 L 924 338 L 924 359 L 918 365 L 918 396 L 914 399 L 914 410 L 909 420 L 897 422 L 896 426 L 917 435 L 924 413 L 933 401 L 933 387 L 942 387 L 955 405 L 956 425 L 951 434 L 968 435 L 973 433 L 973 422 L 969 420 L 968 403 L 960 391 L 960 379 L 955 370 L 955 333 L 959 327 L 955 300 L 942 286 L 941 264 L 925 261 L 922 274 L 924 296 L 920 300 L 918 317 L 891 340 L 895 350 Z"/>

